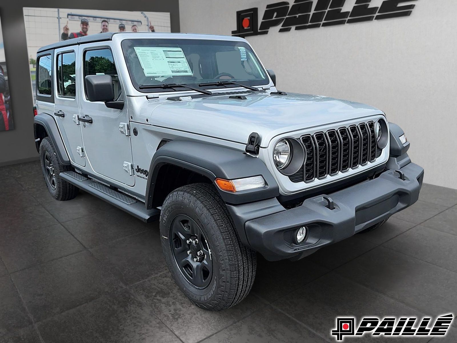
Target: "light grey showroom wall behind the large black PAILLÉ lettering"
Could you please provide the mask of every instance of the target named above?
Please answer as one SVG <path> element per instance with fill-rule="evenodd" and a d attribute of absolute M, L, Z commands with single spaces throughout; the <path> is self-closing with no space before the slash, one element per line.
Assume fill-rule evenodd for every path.
<path fill-rule="evenodd" d="M 370 6 L 381 3 L 372 0 Z M 424 166 L 425 182 L 457 188 L 452 176 L 457 158 L 451 156 L 457 143 L 457 48 L 449 43 L 457 28 L 457 6 L 452 0 L 401 5 L 413 3 L 409 17 L 290 32 L 278 32 L 279 26 L 247 39 L 265 67 L 275 71 L 281 90 L 383 110 L 412 142 L 409 154 Z M 181 16 L 181 31 L 230 35 L 236 29 L 236 11 L 258 7 L 260 22 L 267 4 L 181 1 L 180 11 L 187 14 Z M 345 1 L 341 11 L 350 11 L 354 4 Z"/>

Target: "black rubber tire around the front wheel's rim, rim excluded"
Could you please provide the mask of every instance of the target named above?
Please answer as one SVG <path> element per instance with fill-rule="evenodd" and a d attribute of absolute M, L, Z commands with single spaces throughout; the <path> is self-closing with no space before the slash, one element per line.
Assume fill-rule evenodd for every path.
<path fill-rule="evenodd" d="M 213 275 L 206 288 L 194 287 L 183 275 L 171 251 L 171 224 L 177 215 L 194 220 L 211 250 Z M 213 185 L 194 183 L 175 189 L 160 214 L 165 260 L 175 283 L 195 305 L 221 311 L 236 305 L 250 292 L 257 265 L 254 251 L 241 244 L 233 220 Z"/>

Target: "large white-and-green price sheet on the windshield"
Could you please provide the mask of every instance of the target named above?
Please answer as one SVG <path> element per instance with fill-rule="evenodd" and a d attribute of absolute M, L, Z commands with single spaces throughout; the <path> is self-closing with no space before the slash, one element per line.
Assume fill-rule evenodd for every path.
<path fill-rule="evenodd" d="M 181 48 L 135 47 L 144 75 L 192 75 Z"/>

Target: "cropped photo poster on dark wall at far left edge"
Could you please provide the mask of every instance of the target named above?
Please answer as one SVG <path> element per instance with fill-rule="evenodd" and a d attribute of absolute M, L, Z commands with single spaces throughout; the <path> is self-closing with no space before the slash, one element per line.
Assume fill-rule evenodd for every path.
<path fill-rule="evenodd" d="M 10 87 L 8 86 L 8 72 L 6 70 L 5 47 L 0 20 L 0 131 L 14 129 L 11 113 Z"/>

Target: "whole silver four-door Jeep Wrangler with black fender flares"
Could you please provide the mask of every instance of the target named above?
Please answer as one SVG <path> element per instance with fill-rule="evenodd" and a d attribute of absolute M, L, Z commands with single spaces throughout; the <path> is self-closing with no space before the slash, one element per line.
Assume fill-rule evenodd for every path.
<path fill-rule="evenodd" d="M 256 254 L 297 260 L 418 199 L 424 170 L 385 114 L 286 93 L 243 38 L 101 33 L 37 53 L 49 192 L 79 189 L 151 222 L 196 305 L 241 301 Z"/>

